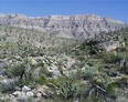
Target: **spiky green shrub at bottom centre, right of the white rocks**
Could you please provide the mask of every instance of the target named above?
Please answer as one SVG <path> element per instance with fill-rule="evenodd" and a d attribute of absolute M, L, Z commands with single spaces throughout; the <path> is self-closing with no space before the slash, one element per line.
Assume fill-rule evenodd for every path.
<path fill-rule="evenodd" d="M 73 99 L 78 95 L 79 84 L 75 83 L 72 78 L 58 78 L 51 81 L 55 90 L 56 95 L 64 99 Z M 60 94 L 58 94 L 60 93 Z"/>

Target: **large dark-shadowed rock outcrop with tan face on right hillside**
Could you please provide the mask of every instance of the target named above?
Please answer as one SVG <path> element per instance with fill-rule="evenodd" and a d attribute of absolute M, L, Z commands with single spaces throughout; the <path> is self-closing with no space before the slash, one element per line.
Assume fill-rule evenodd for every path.
<path fill-rule="evenodd" d="M 97 51 L 109 52 L 119 48 L 120 42 L 115 41 L 113 35 L 100 34 L 100 35 L 96 35 L 95 38 L 85 40 L 83 45 L 90 45 L 93 48 L 93 52 L 97 52 Z"/>

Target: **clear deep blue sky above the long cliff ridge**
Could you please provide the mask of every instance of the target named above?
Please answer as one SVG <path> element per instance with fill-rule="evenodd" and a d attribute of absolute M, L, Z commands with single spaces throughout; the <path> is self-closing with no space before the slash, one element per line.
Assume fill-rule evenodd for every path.
<path fill-rule="evenodd" d="M 0 0 L 0 12 L 28 17 L 94 13 L 128 22 L 128 0 Z"/>

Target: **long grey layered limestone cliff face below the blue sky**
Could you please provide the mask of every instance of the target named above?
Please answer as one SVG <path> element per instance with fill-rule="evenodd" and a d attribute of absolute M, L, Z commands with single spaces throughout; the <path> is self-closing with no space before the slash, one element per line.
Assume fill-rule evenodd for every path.
<path fill-rule="evenodd" d="M 125 27 L 124 22 L 95 14 L 28 18 L 22 14 L 0 13 L 0 23 L 36 29 L 51 35 L 76 39 L 87 39 L 102 32 L 115 31 Z"/>

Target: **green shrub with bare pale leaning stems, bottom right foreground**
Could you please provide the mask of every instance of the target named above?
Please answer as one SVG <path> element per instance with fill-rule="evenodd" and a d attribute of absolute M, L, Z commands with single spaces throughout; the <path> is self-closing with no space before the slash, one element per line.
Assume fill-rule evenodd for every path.
<path fill-rule="evenodd" d="M 90 88 L 87 91 L 87 102 L 108 102 L 107 98 L 115 94 L 114 82 L 103 74 L 100 78 L 95 78 L 92 82 Z"/>

